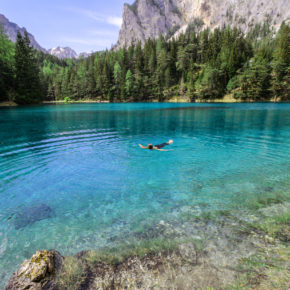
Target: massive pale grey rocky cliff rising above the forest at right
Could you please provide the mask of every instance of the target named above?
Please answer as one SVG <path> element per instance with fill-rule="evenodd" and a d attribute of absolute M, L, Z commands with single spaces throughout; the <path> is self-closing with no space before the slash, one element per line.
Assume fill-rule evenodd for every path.
<path fill-rule="evenodd" d="M 136 0 L 124 5 L 116 48 L 160 35 L 177 36 L 189 26 L 201 30 L 230 25 L 247 33 L 267 22 L 277 31 L 289 18 L 289 0 Z"/>

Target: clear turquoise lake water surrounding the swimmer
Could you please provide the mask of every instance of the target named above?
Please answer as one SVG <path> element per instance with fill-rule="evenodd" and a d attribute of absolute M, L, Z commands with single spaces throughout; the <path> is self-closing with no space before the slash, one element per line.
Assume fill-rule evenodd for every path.
<path fill-rule="evenodd" d="M 169 139 L 167 152 L 138 146 Z M 0 280 L 39 249 L 73 254 L 178 208 L 246 210 L 290 193 L 289 144 L 290 104 L 0 108 Z M 47 218 L 31 213 L 39 205 Z"/>

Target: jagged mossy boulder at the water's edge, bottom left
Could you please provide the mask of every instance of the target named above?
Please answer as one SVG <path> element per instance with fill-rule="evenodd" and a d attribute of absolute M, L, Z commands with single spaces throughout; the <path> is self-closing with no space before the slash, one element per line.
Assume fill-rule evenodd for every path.
<path fill-rule="evenodd" d="M 57 251 L 38 251 L 13 274 L 5 290 L 56 289 L 55 277 L 62 262 L 63 257 Z"/>

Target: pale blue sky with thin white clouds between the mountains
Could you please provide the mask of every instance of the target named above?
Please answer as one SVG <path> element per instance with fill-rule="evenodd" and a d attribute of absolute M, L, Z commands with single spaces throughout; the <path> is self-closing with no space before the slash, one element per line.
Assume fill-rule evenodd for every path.
<path fill-rule="evenodd" d="M 0 0 L 0 14 L 25 27 L 44 48 L 77 53 L 110 49 L 118 40 L 124 3 L 134 0 Z"/>

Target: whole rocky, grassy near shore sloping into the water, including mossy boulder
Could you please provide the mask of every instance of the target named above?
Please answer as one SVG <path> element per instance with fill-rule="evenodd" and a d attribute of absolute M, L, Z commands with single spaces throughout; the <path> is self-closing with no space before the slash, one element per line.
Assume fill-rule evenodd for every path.
<path fill-rule="evenodd" d="M 113 248 L 70 257 L 39 251 L 5 290 L 289 289 L 289 209 L 282 203 L 198 218 L 186 209 L 178 222 L 162 220 Z"/>

